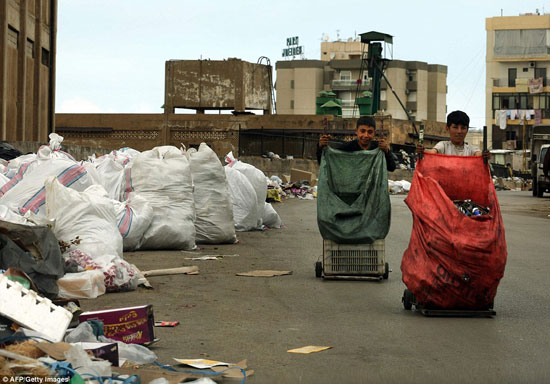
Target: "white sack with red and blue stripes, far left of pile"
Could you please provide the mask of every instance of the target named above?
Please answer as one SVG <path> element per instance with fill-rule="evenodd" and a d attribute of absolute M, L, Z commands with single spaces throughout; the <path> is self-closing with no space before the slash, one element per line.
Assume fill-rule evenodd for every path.
<path fill-rule="evenodd" d="M 72 160 L 54 158 L 40 160 L 36 164 L 32 171 L 24 173 L 24 177 L 16 180 L 16 175 L 4 186 L 11 184 L 11 188 L 0 190 L 0 204 L 21 214 L 29 210 L 42 213 L 46 195 L 44 182 L 47 178 L 55 176 L 61 184 L 76 191 L 84 191 L 98 182 L 95 170 L 86 169 L 84 165 Z"/>

